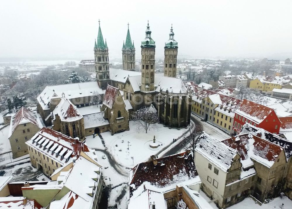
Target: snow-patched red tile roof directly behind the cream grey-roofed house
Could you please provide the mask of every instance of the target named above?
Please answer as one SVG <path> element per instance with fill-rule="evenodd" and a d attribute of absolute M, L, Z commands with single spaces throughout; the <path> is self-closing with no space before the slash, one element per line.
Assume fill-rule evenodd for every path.
<path fill-rule="evenodd" d="M 230 137 L 222 142 L 239 152 L 243 168 L 253 165 L 251 159 L 270 168 L 283 150 L 283 147 L 251 133 Z"/>

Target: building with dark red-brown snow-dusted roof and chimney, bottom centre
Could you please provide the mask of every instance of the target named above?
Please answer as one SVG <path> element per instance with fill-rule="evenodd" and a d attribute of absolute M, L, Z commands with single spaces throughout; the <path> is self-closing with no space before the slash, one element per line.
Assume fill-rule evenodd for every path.
<path fill-rule="evenodd" d="M 130 170 L 130 200 L 133 197 L 135 202 L 136 194 L 141 194 L 144 190 L 143 185 L 146 184 L 146 189 L 154 189 L 154 191 L 159 189 L 164 196 L 167 208 L 171 208 L 177 206 L 180 200 L 177 194 L 178 184 L 180 184 L 179 187 L 187 186 L 199 191 L 200 183 L 190 150 L 163 158 L 151 156 L 150 161 L 139 163 Z"/>

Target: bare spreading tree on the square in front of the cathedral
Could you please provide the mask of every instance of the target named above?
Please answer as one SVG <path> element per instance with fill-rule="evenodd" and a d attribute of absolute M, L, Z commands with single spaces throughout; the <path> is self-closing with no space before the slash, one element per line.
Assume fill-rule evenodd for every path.
<path fill-rule="evenodd" d="M 157 110 L 153 107 L 142 107 L 133 112 L 133 120 L 136 120 L 139 127 L 145 129 L 146 133 L 151 124 L 159 122 Z"/>

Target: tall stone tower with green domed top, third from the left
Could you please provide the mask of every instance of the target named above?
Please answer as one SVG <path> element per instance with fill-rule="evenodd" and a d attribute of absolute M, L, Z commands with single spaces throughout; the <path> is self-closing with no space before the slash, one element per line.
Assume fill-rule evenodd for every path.
<path fill-rule="evenodd" d="M 154 91 L 154 70 L 155 70 L 155 42 L 151 38 L 149 21 L 145 31 L 146 37 L 141 42 L 141 70 L 142 81 L 141 91 Z"/>

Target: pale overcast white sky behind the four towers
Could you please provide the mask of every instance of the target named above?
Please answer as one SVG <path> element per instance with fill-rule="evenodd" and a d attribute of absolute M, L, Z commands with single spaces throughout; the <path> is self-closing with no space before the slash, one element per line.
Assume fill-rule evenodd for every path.
<path fill-rule="evenodd" d="M 0 5 L 0 57 L 93 58 L 98 19 L 110 58 L 127 23 L 140 58 L 149 20 L 162 57 L 171 23 L 179 58 L 292 58 L 292 1 L 14 1 Z"/>

